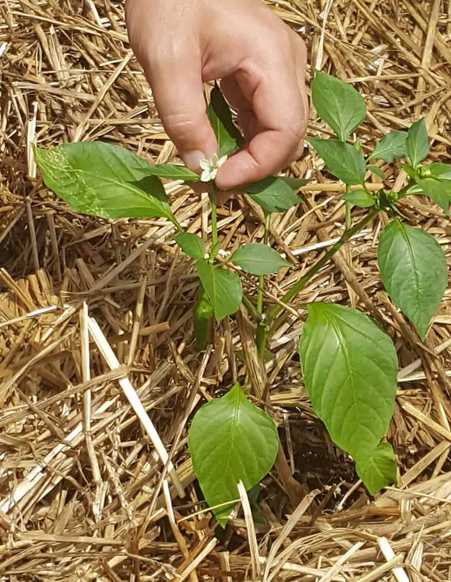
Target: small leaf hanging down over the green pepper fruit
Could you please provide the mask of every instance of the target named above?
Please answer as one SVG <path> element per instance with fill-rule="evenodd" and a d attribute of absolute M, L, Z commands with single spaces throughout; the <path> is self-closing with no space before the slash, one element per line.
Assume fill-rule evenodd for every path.
<path fill-rule="evenodd" d="M 210 265 L 204 259 L 196 262 L 196 269 L 213 306 L 216 321 L 220 323 L 226 315 L 236 313 L 243 294 L 238 275 L 219 265 Z"/>

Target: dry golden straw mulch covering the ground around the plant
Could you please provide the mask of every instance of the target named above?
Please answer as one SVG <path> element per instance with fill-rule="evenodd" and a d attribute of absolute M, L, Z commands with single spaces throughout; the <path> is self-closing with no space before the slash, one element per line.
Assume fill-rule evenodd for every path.
<path fill-rule="evenodd" d="M 322 68 L 364 94 L 365 149 L 425 115 L 431 159 L 451 163 L 451 2 L 270 4 L 308 42 L 309 74 Z M 43 187 L 32 143 L 101 139 L 177 161 L 129 50 L 122 3 L 2 0 L 0 55 L 0 580 L 451 580 L 450 289 L 421 345 L 380 284 L 380 217 L 297 299 L 359 307 L 396 344 L 388 438 L 400 478 L 369 498 L 312 413 L 296 355 L 301 322 L 272 338 L 265 370 L 251 365 L 244 315 L 196 354 L 193 265 L 170 225 L 77 215 Z M 330 135 L 310 121 L 311 135 Z M 340 186 L 315 155 L 306 149 L 291 173 L 315 186 L 273 217 L 272 243 L 295 268 L 270 279 L 269 302 L 343 232 Z M 178 183 L 167 189 L 179 222 L 207 236 L 208 201 Z M 450 257 L 440 208 L 410 197 L 403 212 Z M 229 250 L 263 235 L 262 215 L 241 198 L 220 210 L 219 227 Z M 255 282 L 245 286 L 252 296 Z M 247 367 L 233 356 L 240 349 Z M 253 517 L 239 505 L 217 531 L 193 475 L 189 422 L 232 379 L 250 388 L 265 375 L 284 458 L 253 496 Z M 133 389 L 178 489 L 126 397 Z"/>

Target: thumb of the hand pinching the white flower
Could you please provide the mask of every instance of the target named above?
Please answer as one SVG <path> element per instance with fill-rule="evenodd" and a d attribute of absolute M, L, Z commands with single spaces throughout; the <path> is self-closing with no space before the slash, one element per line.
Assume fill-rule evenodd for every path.
<path fill-rule="evenodd" d="M 199 51 L 188 57 L 185 51 L 152 66 L 147 78 L 165 131 L 185 165 L 198 172 L 199 161 L 217 151 L 217 141 L 206 114 Z"/>

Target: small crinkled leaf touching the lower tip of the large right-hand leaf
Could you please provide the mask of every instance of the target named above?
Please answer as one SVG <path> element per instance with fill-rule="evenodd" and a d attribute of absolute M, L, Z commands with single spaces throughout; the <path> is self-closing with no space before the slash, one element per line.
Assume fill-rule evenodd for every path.
<path fill-rule="evenodd" d="M 372 455 L 355 459 L 355 469 L 370 495 L 375 495 L 386 485 L 396 483 L 396 460 L 392 445 L 389 442 L 379 443 Z"/>

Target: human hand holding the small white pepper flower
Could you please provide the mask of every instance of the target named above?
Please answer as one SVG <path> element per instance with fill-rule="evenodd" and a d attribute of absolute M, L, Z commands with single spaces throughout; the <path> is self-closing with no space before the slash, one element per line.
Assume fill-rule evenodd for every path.
<path fill-rule="evenodd" d="M 217 151 L 203 82 L 221 79 L 246 145 L 221 166 L 230 190 L 300 157 L 308 104 L 306 48 L 260 0 L 127 0 L 133 51 L 165 130 L 192 171 Z"/>

